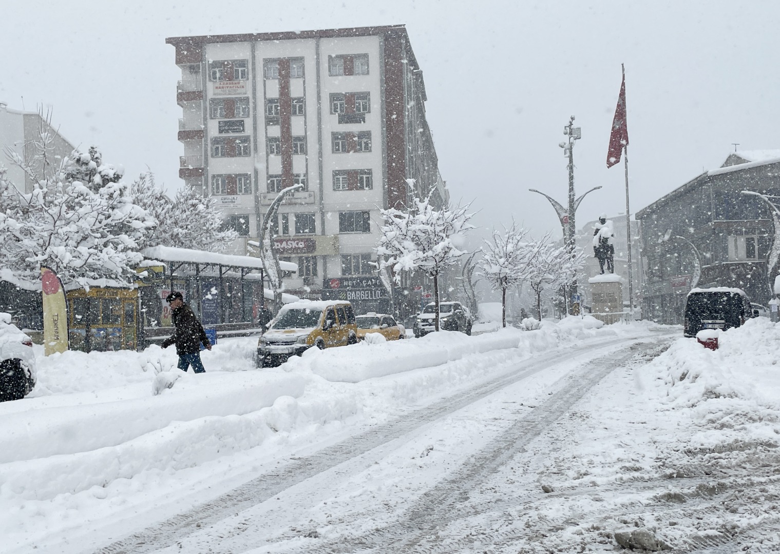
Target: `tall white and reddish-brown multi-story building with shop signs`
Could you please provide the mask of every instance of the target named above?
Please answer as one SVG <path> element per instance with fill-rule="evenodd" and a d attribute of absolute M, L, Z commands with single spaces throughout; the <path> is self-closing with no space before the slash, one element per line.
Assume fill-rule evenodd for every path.
<path fill-rule="evenodd" d="M 268 206 L 287 288 L 389 309 L 376 277 L 379 209 L 449 201 L 425 120 L 423 74 L 403 26 L 174 37 L 182 70 L 179 176 L 218 197 L 252 254 Z"/>

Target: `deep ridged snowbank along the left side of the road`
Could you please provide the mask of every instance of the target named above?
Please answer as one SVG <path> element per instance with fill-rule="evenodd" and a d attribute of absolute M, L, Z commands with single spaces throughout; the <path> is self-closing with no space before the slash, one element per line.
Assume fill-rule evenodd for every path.
<path fill-rule="evenodd" d="M 211 475 L 272 459 L 279 446 L 391 417 L 501 364 L 643 325 L 586 317 L 479 337 L 432 333 L 312 349 L 264 370 L 254 369 L 256 337 L 224 340 L 204 352 L 205 374 L 183 374 L 158 395 L 158 372 L 178 371 L 172 348 L 39 356 L 34 393 L 0 404 L 0 533 L 24 551 L 41 534 L 183 496 Z"/>

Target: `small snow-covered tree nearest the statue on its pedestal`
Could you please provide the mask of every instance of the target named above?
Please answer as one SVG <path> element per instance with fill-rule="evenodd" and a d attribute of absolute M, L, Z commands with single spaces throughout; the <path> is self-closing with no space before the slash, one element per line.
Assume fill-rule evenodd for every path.
<path fill-rule="evenodd" d="M 566 246 L 555 246 L 545 237 L 538 245 L 537 263 L 531 266 L 528 284 L 534 291 L 537 302 L 537 315 L 541 321 L 541 298 L 545 292 L 566 288 L 576 280 L 577 270 L 585 262 L 582 249 L 575 248 L 569 252 Z"/>

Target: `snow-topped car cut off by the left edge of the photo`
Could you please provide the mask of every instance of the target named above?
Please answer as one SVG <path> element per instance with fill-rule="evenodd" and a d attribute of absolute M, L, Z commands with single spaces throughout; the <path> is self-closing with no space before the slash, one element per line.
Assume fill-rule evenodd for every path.
<path fill-rule="evenodd" d="M 33 341 L 0 312 L 0 401 L 19 400 L 34 386 Z"/>

